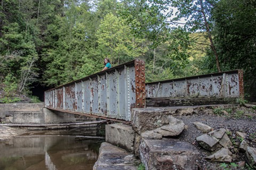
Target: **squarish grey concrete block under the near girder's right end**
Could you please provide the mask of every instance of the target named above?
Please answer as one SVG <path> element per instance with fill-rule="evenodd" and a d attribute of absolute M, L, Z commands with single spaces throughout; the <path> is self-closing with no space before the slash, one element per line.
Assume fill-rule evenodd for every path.
<path fill-rule="evenodd" d="M 132 126 L 122 123 L 106 125 L 106 142 L 133 152 L 134 131 Z"/>

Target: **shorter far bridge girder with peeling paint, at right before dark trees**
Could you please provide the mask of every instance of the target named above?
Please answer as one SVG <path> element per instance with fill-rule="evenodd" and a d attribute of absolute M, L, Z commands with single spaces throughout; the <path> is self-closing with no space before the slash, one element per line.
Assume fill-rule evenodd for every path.
<path fill-rule="evenodd" d="M 146 83 L 147 98 L 243 98 L 243 71 L 234 70 Z"/>

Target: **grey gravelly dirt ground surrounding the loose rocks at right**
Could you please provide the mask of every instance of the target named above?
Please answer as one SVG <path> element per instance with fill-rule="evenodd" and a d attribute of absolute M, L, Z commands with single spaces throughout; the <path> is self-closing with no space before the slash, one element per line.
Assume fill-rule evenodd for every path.
<path fill-rule="evenodd" d="M 254 107 L 253 107 L 254 108 Z M 217 170 L 217 169 L 249 169 L 254 168 L 246 165 L 243 167 L 234 167 L 230 163 L 216 163 L 216 162 L 207 162 L 204 158 L 212 155 L 213 153 L 202 149 L 196 138 L 202 135 L 203 133 L 199 131 L 193 122 L 201 122 L 203 124 L 211 126 L 214 130 L 225 128 L 231 131 L 229 134 L 229 139 L 233 143 L 234 149 L 233 152 L 233 163 L 241 164 L 245 161 L 244 153 L 238 151 L 239 145 L 241 143 L 241 138 L 238 138 L 236 131 L 247 133 L 245 140 L 250 142 L 250 146 L 256 148 L 256 110 L 253 108 L 247 108 L 244 106 L 238 108 L 214 108 L 212 111 L 214 113 L 202 114 L 198 112 L 197 114 L 189 116 L 180 116 L 177 117 L 182 120 L 185 125 L 188 126 L 186 130 L 179 135 L 178 139 L 182 141 L 187 141 L 194 145 L 200 152 L 201 161 L 199 162 L 198 169 L 207 169 L 207 170 Z M 226 165 L 226 168 L 221 167 Z"/>

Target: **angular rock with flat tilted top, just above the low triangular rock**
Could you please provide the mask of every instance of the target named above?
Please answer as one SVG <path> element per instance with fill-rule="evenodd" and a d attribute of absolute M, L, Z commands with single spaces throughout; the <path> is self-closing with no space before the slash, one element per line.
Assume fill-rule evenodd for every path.
<path fill-rule="evenodd" d="M 221 146 L 218 144 L 219 140 L 210 136 L 209 134 L 203 134 L 196 138 L 199 145 L 206 150 L 214 151 Z"/>

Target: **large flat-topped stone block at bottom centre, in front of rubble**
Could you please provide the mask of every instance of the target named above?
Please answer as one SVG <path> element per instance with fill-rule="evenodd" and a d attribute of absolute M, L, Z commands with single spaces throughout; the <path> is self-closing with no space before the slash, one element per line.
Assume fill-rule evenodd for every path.
<path fill-rule="evenodd" d="M 178 139 L 142 139 L 139 147 L 146 169 L 197 169 L 198 150 Z"/>

